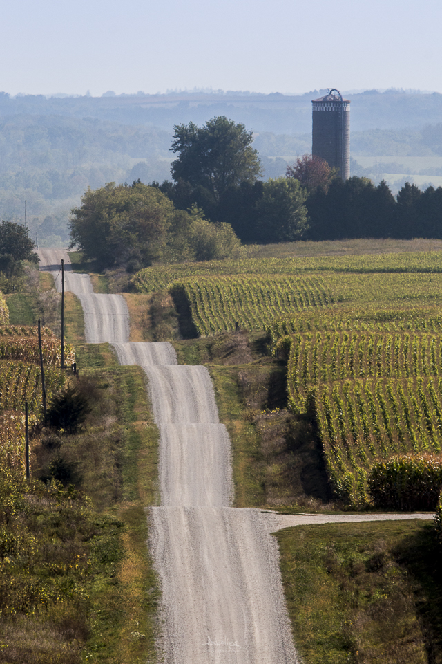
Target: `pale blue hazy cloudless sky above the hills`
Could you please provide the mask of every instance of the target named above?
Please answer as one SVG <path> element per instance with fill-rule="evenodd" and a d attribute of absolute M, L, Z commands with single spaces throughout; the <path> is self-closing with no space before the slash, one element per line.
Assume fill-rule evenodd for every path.
<path fill-rule="evenodd" d="M 1 2 L 0 90 L 442 92 L 441 0 Z"/>

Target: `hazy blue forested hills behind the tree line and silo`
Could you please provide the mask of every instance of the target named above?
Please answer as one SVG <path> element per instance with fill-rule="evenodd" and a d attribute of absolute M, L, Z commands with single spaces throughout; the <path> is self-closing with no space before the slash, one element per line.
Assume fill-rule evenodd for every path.
<path fill-rule="evenodd" d="M 218 115 L 253 129 L 264 178 L 311 151 L 311 99 L 248 93 L 46 98 L 0 93 L 0 218 L 24 221 L 41 246 L 66 243 L 70 209 L 88 186 L 170 178 L 173 125 Z M 358 156 L 442 156 L 442 95 L 362 93 L 352 100 L 352 174 L 376 180 Z M 396 168 L 396 170 L 395 170 Z M 410 171 L 405 171 L 410 172 Z M 417 171 L 416 171 L 417 172 Z M 419 171 L 421 172 L 421 171 Z M 428 167 L 442 176 L 442 164 Z M 430 178 L 429 178 L 430 179 Z"/>

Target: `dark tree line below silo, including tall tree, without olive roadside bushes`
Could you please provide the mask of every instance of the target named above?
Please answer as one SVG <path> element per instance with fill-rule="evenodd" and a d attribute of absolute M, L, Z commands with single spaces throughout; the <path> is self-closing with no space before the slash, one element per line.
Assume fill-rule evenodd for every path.
<path fill-rule="evenodd" d="M 238 140 L 247 144 L 242 163 L 229 164 L 215 151 L 220 128 L 231 135 L 234 154 Z M 247 243 L 442 237 L 442 187 L 421 192 L 405 183 L 395 198 L 385 181 L 377 186 L 366 177 L 343 181 L 323 160 L 308 155 L 287 167 L 285 177 L 262 181 L 251 141 L 251 132 L 227 118 L 214 118 L 201 129 L 179 125 L 172 145 L 180 155 L 172 164 L 173 181 L 153 185 L 179 209 L 195 203 L 211 221 L 230 223 Z M 229 177 L 209 156 L 220 160 Z"/>

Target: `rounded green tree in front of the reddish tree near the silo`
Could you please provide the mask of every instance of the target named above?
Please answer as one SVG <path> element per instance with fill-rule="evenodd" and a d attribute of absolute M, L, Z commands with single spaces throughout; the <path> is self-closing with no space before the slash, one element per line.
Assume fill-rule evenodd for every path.
<path fill-rule="evenodd" d="M 270 178 L 256 203 L 257 240 L 292 242 L 307 231 L 307 192 L 294 178 Z"/>

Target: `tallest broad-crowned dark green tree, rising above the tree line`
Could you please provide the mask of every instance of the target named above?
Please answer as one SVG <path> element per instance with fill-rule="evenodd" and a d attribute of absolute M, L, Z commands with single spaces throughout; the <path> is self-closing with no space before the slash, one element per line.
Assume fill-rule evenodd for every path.
<path fill-rule="evenodd" d="M 204 127 L 193 122 L 177 124 L 171 151 L 179 154 L 172 163 L 175 181 L 204 187 L 220 201 L 228 187 L 254 182 L 262 174 L 258 151 L 251 147 L 252 131 L 226 116 L 212 118 Z"/>

